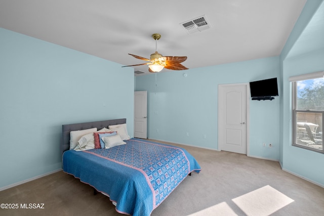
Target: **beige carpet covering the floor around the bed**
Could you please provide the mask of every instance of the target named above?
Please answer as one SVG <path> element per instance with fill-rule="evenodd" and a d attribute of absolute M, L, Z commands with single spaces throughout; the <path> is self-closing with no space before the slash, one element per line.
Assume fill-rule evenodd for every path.
<path fill-rule="evenodd" d="M 282 171 L 278 162 L 181 147 L 202 170 L 188 176 L 152 216 L 324 215 L 324 188 Z M 0 215 L 123 215 L 108 197 L 93 195 L 89 185 L 63 171 L 0 191 L 0 203 L 18 204 L 0 209 Z M 22 208 L 29 203 L 44 206 Z"/>

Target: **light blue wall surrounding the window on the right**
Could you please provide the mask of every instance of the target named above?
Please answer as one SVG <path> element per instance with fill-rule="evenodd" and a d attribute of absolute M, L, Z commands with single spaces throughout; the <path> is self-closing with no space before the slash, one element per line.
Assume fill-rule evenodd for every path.
<path fill-rule="evenodd" d="M 307 1 L 280 55 L 280 74 L 282 80 L 282 97 L 280 98 L 280 164 L 282 169 L 324 187 L 324 154 L 292 146 L 292 92 L 291 83 L 289 82 L 290 76 L 324 70 L 324 49 L 309 52 L 309 47 L 316 48 L 313 44 L 316 41 L 313 39 L 307 40 L 303 37 L 303 33 L 307 31 L 307 26 L 312 25 L 312 18 L 320 5 L 324 7 L 323 2 L 323 0 Z M 323 17 L 322 15 L 319 16 Z M 313 33 L 316 33 L 316 31 Z M 319 33 L 322 32 L 320 31 Z M 320 46 L 322 41 L 318 42 L 317 48 L 322 48 Z M 303 53 L 300 49 L 302 47 L 306 48 L 307 51 Z M 294 50 L 298 55 L 296 55 Z"/>

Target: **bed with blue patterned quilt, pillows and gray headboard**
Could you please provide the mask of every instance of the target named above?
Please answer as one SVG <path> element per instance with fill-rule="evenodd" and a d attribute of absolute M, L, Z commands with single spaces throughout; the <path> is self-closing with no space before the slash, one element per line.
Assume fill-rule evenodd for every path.
<path fill-rule="evenodd" d="M 198 173 L 200 166 L 185 149 L 171 145 L 123 137 L 123 143 L 109 146 L 109 140 L 119 139 L 125 132 L 119 130 L 121 125 L 125 127 L 125 118 L 62 125 L 63 171 L 107 195 L 117 212 L 150 215 L 185 177 L 192 171 Z M 105 134 L 99 135 L 105 141 L 103 148 L 97 145 L 90 149 L 71 149 L 74 133 L 93 128 L 102 131 L 110 127 L 120 136 L 110 136 L 114 132 L 93 132 Z M 108 138 L 101 137 L 108 134 Z M 80 140 L 78 146 L 82 143 Z"/>

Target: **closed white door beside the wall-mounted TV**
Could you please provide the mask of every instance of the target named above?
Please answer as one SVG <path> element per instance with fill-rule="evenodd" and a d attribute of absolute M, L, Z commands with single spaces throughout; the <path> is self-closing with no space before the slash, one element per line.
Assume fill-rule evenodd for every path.
<path fill-rule="evenodd" d="M 247 154 L 249 84 L 218 88 L 218 150 Z"/>

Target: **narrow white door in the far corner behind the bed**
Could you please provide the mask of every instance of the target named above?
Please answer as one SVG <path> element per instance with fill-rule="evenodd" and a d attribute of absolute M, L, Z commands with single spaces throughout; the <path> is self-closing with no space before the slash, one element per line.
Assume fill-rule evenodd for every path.
<path fill-rule="evenodd" d="M 147 92 L 134 94 L 134 137 L 147 138 Z"/>

